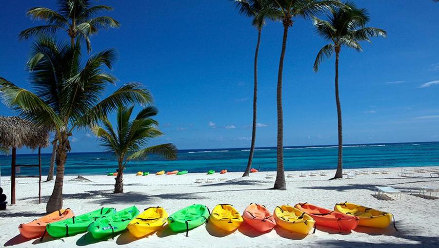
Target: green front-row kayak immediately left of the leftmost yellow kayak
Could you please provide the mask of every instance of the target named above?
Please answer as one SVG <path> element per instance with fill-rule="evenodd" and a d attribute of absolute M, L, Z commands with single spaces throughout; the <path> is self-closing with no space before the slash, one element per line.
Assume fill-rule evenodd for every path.
<path fill-rule="evenodd" d="M 129 207 L 97 219 L 88 226 L 87 231 L 89 231 L 96 239 L 104 239 L 111 235 L 114 236 L 118 232 L 125 230 L 130 221 L 138 214 L 139 210 L 136 206 Z"/>

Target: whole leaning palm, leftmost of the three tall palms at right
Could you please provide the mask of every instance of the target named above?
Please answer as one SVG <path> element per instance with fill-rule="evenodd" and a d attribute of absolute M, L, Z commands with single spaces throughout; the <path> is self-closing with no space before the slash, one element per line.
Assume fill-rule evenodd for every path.
<path fill-rule="evenodd" d="M 265 19 L 271 18 L 267 16 L 269 13 L 266 8 L 270 7 L 267 0 L 234 0 L 236 8 L 239 13 L 252 18 L 252 25 L 258 29 L 258 41 L 256 42 L 255 62 L 254 62 L 254 86 L 253 86 L 253 125 L 252 125 L 252 141 L 250 146 L 250 154 L 248 156 L 247 168 L 245 169 L 244 176 L 250 175 L 250 169 L 252 168 L 253 153 L 255 152 L 256 141 L 256 113 L 257 113 L 257 100 L 258 100 L 258 53 L 260 44 L 260 34 L 262 27 L 265 25 Z"/>

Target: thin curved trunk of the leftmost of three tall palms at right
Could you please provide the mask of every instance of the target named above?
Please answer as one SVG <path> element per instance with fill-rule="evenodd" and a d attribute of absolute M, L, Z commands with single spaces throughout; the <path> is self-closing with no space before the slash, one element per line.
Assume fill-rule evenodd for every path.
<path fill-rule="evenodd" d="M 259 44 L 260 44 L 260 33 L 261 28 L 258 29 L 258 42 L 256 43 L 256 51 L 255 51 L 255 85 L 253 88 L 253 125 L 252 125 L 252 144 L 250 146 L 250 154 L 248 156 L 248 163 L 247 168 L 245 169 L 244 176 L 249 176 L 250 169 L 252 168 L 252 161 L 253 161 L 253 153 L 255 152 L 255 141 L 256 141 L 256 107 L 257 107 L 257 101 L 258 101 L 258 53 L 259 53 Z"/>

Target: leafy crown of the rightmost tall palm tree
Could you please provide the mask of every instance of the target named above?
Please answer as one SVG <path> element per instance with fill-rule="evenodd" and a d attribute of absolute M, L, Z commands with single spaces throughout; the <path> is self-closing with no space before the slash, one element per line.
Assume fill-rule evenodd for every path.
<path fill-rule="evenodd" d="M 314 71 L 319 70 L 323 59 L 331 57 L 334 51 L 341 46 L 362 51 L 360 41 L 369 41 L 371 37 L 386 37 L 386 31 L 379 28 L 366 27 L 369 22 L 369 13 L 366 9 L 357 8 L 353 2 L 346 2 L 342 7 L 332 7 L 327 20 L 313 18 L 317 33 L 332 43 L 323 46 L 314 62 Z"/>

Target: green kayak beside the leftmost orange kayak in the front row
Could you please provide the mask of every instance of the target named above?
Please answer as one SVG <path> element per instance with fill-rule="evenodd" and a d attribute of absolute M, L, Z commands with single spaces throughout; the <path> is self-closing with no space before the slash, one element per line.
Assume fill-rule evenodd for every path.
<path fill-rule="evenodd" d="M 102 216 L 110 215 L 116 212 L 114 208 L 101 208 L 88 213 L 84 213 L 73 218 L 49 223 L 46 226 L 47 232 L 54 238 L 73 236 L 85 232 L 88 225 Z"/>

